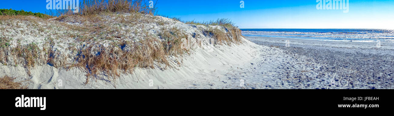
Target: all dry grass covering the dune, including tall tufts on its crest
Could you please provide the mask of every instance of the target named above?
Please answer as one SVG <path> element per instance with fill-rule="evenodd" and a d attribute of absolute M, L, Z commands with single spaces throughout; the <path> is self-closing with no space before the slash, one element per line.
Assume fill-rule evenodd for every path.
<path fill-rule="evenodd" d="M 44 41 L 43 46 L 38 46 L 37 43 L 33 42 L 26 45 L 17 44 L 16 47 L 10 48 L 9 38 L 0 36 L 0 62 L 5 63 L 6 57 L 13 55 L 20 59 L 16 60 L 19 62 L 15 65 L 24 64 L 25 68 L 28 68 L 29 75 L 29 68 L 33 68 L 35 64 L 46 63 L 67 70 L 74 67 L 80 68 L 86 72 L 85 84 L 87 84 L 91 79 L 97 81 L 100 75 L 105 75 L 108 80 L 115 80 L 121 73 L 132 74 L 138 67 L 163 70 L 171 67 L 171 63 L 167 59 L 170 55 L 180 56 L 189 52 L 188 48 L 182 46 L 182 44 L 189 42 L 184 29 L 177 26 L 166 27 L 165 24 L 167 23 L 160 21 L 157 23 L 162 28 L 158 30 L 158 35 L 150 35 L 148 33 L 149 29 L 143 29 L 144 24 L 153 23 L 153 18 L 157 18 L 153 16 L 156 13 L 156 8 L 150 8 L 147 4 L 149 0 L 104 1 L 84 0 L 80 4 L 79 13 L 72 13 L 71 10 L 58 11 L 60 17 L 54 18 L 53 21 L 58 21 L 66 29 L 79 33 L 67 33 L 67 38 L 71 38 L 71 41 L 74 41 L 72 44 L 76 44 L 74 47 L 67 48 L 69 50 L 67 52 L 71 52 L 70 55 L 72 56 L 66 56 L 67 53 L 65 52 L 60 53 L 52 50 L 52 47 L 56 45 L 54 41 L 59 42 L 59 39 L 62 38 L 48 38 Z M 128 13 L 129 15 L 117 15 L 117 13 Z M 107 16 L 111 17 L 111 20 L 104 19 Z M 32 20 L 32 18 L 22 16 L 7 16 L 0 17 L 0 23 L 7 23 L 7 20 L 12 20 L 12 18 Z M 180 18 L 172 19 L 180 21 Z M 2 22 L 1 20 L 5 21 Z M 40 20 L 40 22 L 47 21 Z M 67 24 L 67 22 L 82 22 L 82 24 L 75 26 Z M 208 26 L 208 29 L 203 30 L 203 32 L 205 35 L 216 39 L 215 44 L 226 43 L 230 45 L 241 42 L 240 30 L 229 19 L 185 23 Z M 33 24 L 38 25 L 37 22 Z M 112 24 L 119 26 L 115 27 Z M 135 30 L 123 29 L 122 27 L 125 26 L 137 28 Z M 212 26 L 224 26 L 225 28 Z M 42 28 L 40 26 L 32 27 Z M 43 29 L 41 32 L 45 31 Z M 132 33 L 136 37 L 125 41 L 125 38 L 130 39 L 130 37 L 125 37 L 125 33 Z M 59 33 L 52 34 L 56 34 L 57 37 L 64 36 Z M 109 46 L 104 47 L 100 44 L 100 41 L 112 42 Z M 9 53 L 9 51 L 11 52 Z"/>

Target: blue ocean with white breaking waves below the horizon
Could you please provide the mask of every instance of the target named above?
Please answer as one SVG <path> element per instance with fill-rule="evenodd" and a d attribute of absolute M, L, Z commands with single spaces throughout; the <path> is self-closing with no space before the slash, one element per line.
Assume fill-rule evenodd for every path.
<path fill-rule="evenodd" d="M 241 29 L 244 36 L 322 41 L 394 42 L 393 29 Z"/>

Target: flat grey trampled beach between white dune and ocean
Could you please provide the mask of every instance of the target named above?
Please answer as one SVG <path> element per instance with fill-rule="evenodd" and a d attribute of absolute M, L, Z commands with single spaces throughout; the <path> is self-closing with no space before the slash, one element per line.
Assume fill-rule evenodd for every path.
<path fill-rule="evenodd" d="M 245 75 L 249 77 L 245 78 L 249 88 L 394 88 L 393 49 L 387 44 L 373 48 L 373 44 L 364 42 L 245 38 L 268 47 L 262 50 L 265 55 L 255 59 L 258 66 L 249 66 L 249 72 L 258 72 Z M 290 47 L 285 46 L 286 40 L 290 40 Z M 271 81 L 259 82 L 262 79 Z"/>

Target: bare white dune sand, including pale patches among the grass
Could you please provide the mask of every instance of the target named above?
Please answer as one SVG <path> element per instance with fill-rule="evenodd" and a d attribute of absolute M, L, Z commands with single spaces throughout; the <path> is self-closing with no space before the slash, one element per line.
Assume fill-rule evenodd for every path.
<path fill-rule="evenodd" d="M 268 49 L 267 47 L 258 46 L 246 39 L 244 39 L 243 43 L 239 45 L 214 45 L 212 42 L 214 39 L 211 37 L 203 36 L 203 33 L 201 33 L 201 31 L 199 30 L 201 28 L 206 28 L 204 26 L 184 24 L 182 22 L 174 21 L 172 19 L 164 17 L 158 17 L 158 20 L 165 20 L 166 22 L 169 22 L 169 24 L 166 24 L 165 26 L 181 27 L 187 32 L 190 39 L 189 41 L 191 41 L 189 45 L 186 45 L 192 49 L 192 53 L 190 55 L 186 54 L 182 58 L 177 58 L 173 56 L 169 57 L 169 61 L 174 61 L 173 64 L 175 64 L 175 68 L 169 68 L 167 70 L 160 70 L 158 68 L 137 68 L 134 71 L 134 74 L 122 74 L 115 81 L 107 80 L 108 77 L 106 77 L 105 75 L 99 75 L 99 77 L 97 77 L 96 79 L 92 79 L 87 85 L 84 84 L 86 81 L 85 71 L 78 68 L 72 68 L 66 71 L 63 68 L 55 68 L 48 64 L 38 64 L 34 68 L 31 68 L 31 76 L 26 73 L 26 69 L 23 66 L 2 65 L 0 66 L 0 76 L 10 75 L 16 77 L 15 81 L 29 80 L 22 83 L 24 85 L 28 85 L 30 89 L 245 88 L 243 85 L 240 85 L 240 83 L 242 83 L 240 79 L 247 80 L 244 82 L 246 83 L 245 85 L 249 84 L 249 81 L 272 81 L 272 83 L 276 83 L 275 80 L 253 80 L 249 79 L 248 77 L 257 75 L 244 75 L 245 69 L 250 68 L 250 66 L 252 65 L 251 63 L 256 63 L 255 61 L 260 57 L 260 55 L 270 55 L 269 57 L 272 58 L 276 57 L 277 53 L 264 51 L 265 49 Z M 56 21 L 51 22 L 51 24 L 46 25 L 57 25 Z M 24 24 L 24 22 L 16 23 L 22 24 L 22 30 L 24 29 L 28 31 L 37 31 L 36 29 L 28 29 L 27 27 L 24 27 L 26 25 Z M 40 22 L 40 24 L 45 23 L 46 22 Z M 79 23 L 78 21 L 74 21 L 68 22 L 68 24 L 78 25 Z M 160 27 L 156 26 L 156 24 L 147 24 L 146 27 L 152 30 L 150 31 L 150 33 L 152 34 L 156 34 L 157 30 L 160 29 Z M 219 28 L 222 28 L 223 31 L 225 31 L 223 27 Z M 11 33 L 9 33 L 9 36 L 17 36 L 18 33 L 20 33 L 14 30 L 16 29 L 9 29 L 9 31 L 11 31 Z M 67 29 L 61 30 L 61 33 L 65 30 Z M 196 39 L 192 37 L 193 33 L 197 34 Z M 19 34 L 17 37 L 25 40 L 22 44 L 28 44 L 31 41 L 42 43 L 41 41 L 45 39 L 45 37 L 43 36 L 44 35 L 39 36 L 32 34 Z M 48 36 L 54 35 L 49 34 Z M 67 40 L 67 37 L 64 38 Z M 55 41 L 59 41 L 59 44 L 57 44 L 57 46 L 54 46 L 53 48 L 56 50 L 65 50 L 68 45 L 66 43 L 72 43 L 72 41 Z M 197 44 L 195 44 L 197 41 L 202 41 L 203 45 L 198 46 Z M 13 41 L 14 46 L 15 44 L 16 42 Z M 178 61 L 182 63 L 180 66 L 176 65 Z M 262 68 L 261 70 L 268 70 L 271 69 L 269 66 L 273 66 L 269 63 L 264 65 L 268 67 L 263 66 L 264 68 Z M 264 76 L 269 76 L 270 74 L 273 73 L 268 73 Z"/>

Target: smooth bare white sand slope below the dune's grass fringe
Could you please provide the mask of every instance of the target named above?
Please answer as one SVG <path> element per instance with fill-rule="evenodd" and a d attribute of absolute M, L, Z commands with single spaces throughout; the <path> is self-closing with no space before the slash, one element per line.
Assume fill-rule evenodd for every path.
<path fill-rule="evenodd" d="M 190 56 L 183 59 L 183 66 L 170 68 L 168 70 L 138 68 L 134 74 L 121 75 L 116 81 L 103 80 L 91 81 L 91 84 L 84 85 L 86 81 L 85 72 L 78 68 L 66 71 L 62 68 L 54 68 L 49 65 L 36 66 L 31 70 L 29 77 L 22 66 L 0 66 L 2 75 L 13 75 L 16 81 L 30 80 L 29 88 L 42 89 L 97 89 L 97 88 L 144 88 L 144 89 L 169 89 L 169 88 L 230 88 L 239 86 L 240 78 L 231 76 L 237 73 L 245 65 L 250 65 L 250 60 L 257 56 L 259 47 L 251 42 L 239 46 L 213 47 L 212 52 L 197 49 Z M 229 73 L 229 74 L 228 74 Z M 17 75 L 17 76 L 15 76 Z M 102 76 L 102 75 L 101 75 Z M 232 77 L 232 79 L 228 79 Z M 59 87 L 57 82 L 63 81 L 63 87 Z M 149 87 L 149 80 L 153 80 L 153 87 Z M 222 81 L 228 82 L 224 83 Z M 40 85 L 41 84 L 41 85 Z"/>

